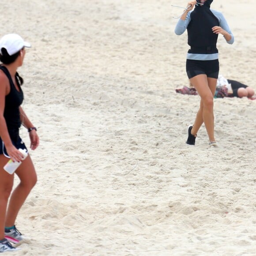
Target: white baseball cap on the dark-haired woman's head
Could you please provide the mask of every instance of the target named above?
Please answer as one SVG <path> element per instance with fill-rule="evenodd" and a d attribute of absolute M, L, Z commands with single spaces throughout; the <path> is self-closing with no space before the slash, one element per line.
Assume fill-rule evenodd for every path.
<path fill-rule="evenodd" d="M 8 54 L 11 56 L 18 53 L 23 47 L 31 47 L 30 43 L 25 42 L 17 34 L 7 34 L 0 39 L 0 53 L 2 54 L 2 48 L 5 48 Z"/>

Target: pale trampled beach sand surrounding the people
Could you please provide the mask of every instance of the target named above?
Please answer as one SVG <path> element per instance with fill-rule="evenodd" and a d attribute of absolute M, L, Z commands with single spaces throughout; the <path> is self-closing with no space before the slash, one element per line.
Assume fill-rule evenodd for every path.
<path fill-rule="evenodd" d="M 185 144 L 199 97 L 175 92 L 188 45 L 171 4 L 186 3 L 1 2 L 1 35 L 33 45 L 19 73 L 41 138 L 13 255 L 256 255 L 256 101 L 216 99 L 220 148 L 204 127 Z M 255 0 L 212 8 L 236 40 L 219 38 L 220 72 L 256 89 Z"/>

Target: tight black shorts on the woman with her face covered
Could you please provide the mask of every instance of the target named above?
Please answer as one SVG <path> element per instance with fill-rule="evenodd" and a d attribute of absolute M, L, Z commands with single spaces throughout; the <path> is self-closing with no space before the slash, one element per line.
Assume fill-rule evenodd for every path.
<path fill-rule="evenodd" d="M 218 79 L 219 64 L 218 60 L 188 60 L 186 62 L 188 78 L 196 75 L 207 75 L 207 77 Z"/>

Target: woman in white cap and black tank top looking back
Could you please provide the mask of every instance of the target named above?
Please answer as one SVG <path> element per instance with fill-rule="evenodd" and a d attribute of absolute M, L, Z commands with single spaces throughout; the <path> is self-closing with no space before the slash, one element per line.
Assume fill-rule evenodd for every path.
<path fill-rule="evenodd" d="M 24 238 L 16 229 L 15 220 L 37 182 L 30 155 L 23 160 L 23 154 L 18 150 L 27 150 L 19 136 L 21 124 L 28 130 L 31 150 L 39 145 L 37 129 L 21 107 L 23 79 L 17 69 L 23 64 L 25 47 L 30 47 L 30 44 L 17 34 L 7 34 L 0 39 L 0 252 L 17 250 L 10 242 L 19 243 Z M 4 169 L 10 158 L 13 162 L 22 161 L 15 170 L 20 183 L 12 194 L 14 173 Z"/>

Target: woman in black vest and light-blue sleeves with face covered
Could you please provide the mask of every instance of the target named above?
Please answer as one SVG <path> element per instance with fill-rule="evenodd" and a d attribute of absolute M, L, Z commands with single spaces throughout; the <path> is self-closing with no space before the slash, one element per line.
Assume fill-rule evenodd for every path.
<path fill-rule="evenodd" d="M 216 47 L 218 34 L 222 34 L 228 44 L 234 42 L 234 36 L 222 13 L 210 9 L 212 2 L 213 0 L 188 2 L 187 10 L 181 15 L 175 27 L 177 35 L 183 34 L 186 29 L 188 31 L 190 49 L 187 54 L 186 72 L 201 98 L 196 120 L 188 127 L 186 143 L 189 145 L 195 145 L 197 132 L 203 123 L 209 137 L 209 144 L 216 145 L 213 98 L 219 72 Z"/>

